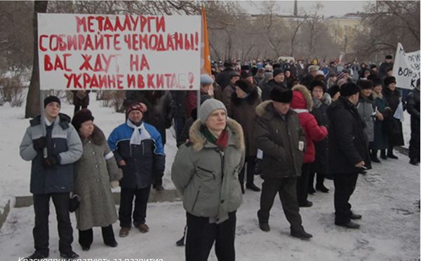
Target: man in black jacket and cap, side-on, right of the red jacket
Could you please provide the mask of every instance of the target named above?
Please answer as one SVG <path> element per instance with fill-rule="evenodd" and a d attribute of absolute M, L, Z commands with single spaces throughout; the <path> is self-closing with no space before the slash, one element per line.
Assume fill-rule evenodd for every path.
<path fill-rule="evenodd" d="M 335 225 L 357 229 L 352 220 L 361 215 L 352 213 L 349 197 L 355 190 L 358 174 L 370 168 L 368 142 L 355 105 L 360 88 L 354 83 L 345 83 L 340 88 L 341 96 L 328 108 L 329 167 L 335 184 Z"/>

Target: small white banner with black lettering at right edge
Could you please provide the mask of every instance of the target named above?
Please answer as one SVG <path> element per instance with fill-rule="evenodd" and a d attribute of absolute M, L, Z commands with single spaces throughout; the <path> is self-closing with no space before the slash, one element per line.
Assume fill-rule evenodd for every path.
<path fill-rule="evenodd" d="M 405 52 L 401 43 L 398 43 L 393 64 L 393 76 L 396 78 L 396 87 L 413 89 L 420 78 L 420 51 Z"/>

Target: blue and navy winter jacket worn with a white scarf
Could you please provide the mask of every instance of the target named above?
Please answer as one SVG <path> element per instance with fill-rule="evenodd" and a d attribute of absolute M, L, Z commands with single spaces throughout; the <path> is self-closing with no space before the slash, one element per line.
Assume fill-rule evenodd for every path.
<path fill-rule="evenodd" d="M 147 133 L 142 134 L 144 139 L 140 145 L 130 144 L 133 128 L 127 123 L 119 125 L 109 134 L 108 145 L 116 162 L 126 161 L 125 166 L 119 166 L 123 170 L 121 188 L 147 188 L 154 181 L 153 174 L 161 176 L 165 169 L 161 134 L 154 126 L 143 124 Z"/>

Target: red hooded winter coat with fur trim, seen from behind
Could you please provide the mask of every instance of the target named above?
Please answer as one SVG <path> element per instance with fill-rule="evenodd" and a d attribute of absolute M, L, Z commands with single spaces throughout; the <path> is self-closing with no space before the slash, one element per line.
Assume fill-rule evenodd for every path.
<path fill-rule="evenodd" d="M 321 141 L 328 136 L 328 129 L 325 126 L 319 126 L 316 118 L 310 113 L 313 108 L 313 99 L 307 87 L 304 85 L 295 85 L 293 87 L 293 101 L 291 108 L 298 113 L 300 125 L 305 132 L 306 146 L 303 163 L 314 162 L 316 151 L 313 141 Z"/>

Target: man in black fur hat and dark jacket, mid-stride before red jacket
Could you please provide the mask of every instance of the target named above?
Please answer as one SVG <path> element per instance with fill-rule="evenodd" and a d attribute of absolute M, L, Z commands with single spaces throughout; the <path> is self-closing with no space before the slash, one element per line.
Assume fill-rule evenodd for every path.
<path fill-rule="evenodd" d="M 310 239 L 311 234 L 302 227 L 297 200 L 297 177 L 301 174 L 305 133 L 297 113 L 290 108 L 293 92 L 275 87 L 270 93 L 272 101 L 256 108 L 259 118 L 255 127 L 258 148 L 263 151 L 262 177 L 265 180 L 260 195 L 258 219 L 260 229 L 268 232 L 269 212 L 279 193 L 290 235 Z"/>

